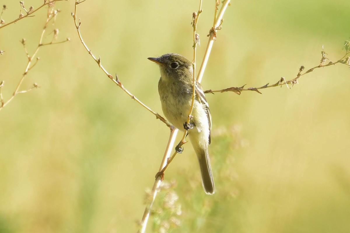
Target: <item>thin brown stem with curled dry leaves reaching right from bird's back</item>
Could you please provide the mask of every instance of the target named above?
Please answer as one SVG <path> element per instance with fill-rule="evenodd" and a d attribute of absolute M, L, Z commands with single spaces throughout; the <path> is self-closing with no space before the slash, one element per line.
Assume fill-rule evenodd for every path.
<path fill-rule="evenodd" d="M 349 64 L 346 63 L 346 60 L 343 60 L 345 57 L 349 56 L 350 52 L 345 53 L 345 55 L 337 60 L 336 62 L 332 62 L 330 61 L 328 64 L 326 65 L 317 65 L 315 67 L 310 68 L 309 70 L 305 71 L 303 74 L 301 74 L 301 70 L 299 70 L 299 73 L 296 75 L 296 77 L 294 79 L 288 80 L 286 81 L 284 77 L 282 77 L 279 81 L 277 81 L 275 84 L 269 85 L 269 83 L 267 83 L 266 85 L 262 86 L 262 87 L 249 87 L 249 88 L 244 88 L 245 85 L 241 86 L 241 87 L 229 87 L 229 88 L 225 88 L 225 89 L 221 89 L 221 90 L 205 90 L 204 93 L 215 93 L 215 92 L 235 92 L 236 94 L 240 95 L 240 93 L 242 91 L 245 90 L 250 90 L 250 91 L 255 91 L 258 92 L 259 94 L 262 94 L 261 92 L 259 92 L 260 89 L 265 89 L 265 88 L 269 88 L 269 87 L 278 87 L 278 86 L 283 86 L 283 85 L 291 85 L 293 86 L 294 84 L 298 83 L 298 79 L 303 76 L 304 74 L 308 74 L 310 72 L 313 72 L 316 68 L 321 68 L 321 67 L 327 67 L 327 66 L 332 66 L 332 65 L 336 65 L 336 64 L 345 64 L 347 66 L 350 67 Z M 289 88 L 289 87 L 288 87 Z"/>

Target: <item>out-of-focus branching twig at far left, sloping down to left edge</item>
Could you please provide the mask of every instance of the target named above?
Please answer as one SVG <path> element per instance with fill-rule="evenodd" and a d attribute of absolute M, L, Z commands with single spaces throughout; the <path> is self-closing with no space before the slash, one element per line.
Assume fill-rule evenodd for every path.
<path fill-rule="evenodd" d="M 51 1 L 51 2 L 54 2 L 54 1 Z M 47 5 L 47 4 L 45 4 Z M 28 57 L 28 62 L 27 62 L 27 66 L 26 66 L 26 69 L 25 69 L 25 72 L 23 73 L 22 75 L 22 78 L 20 79 L 18 85 L 16 86 L 16 89 L 15 91 L 13 92 L 12 96 L 10 97 L 10 99 L 8 99 L 6 102 L 3 101 L 2 97 L 1 97 L 1 105 L 0 105 L 0 110 L 3 109 L 9 102 L 11 102 L 13 100 L 13 98 L 17 95 L 17 94 L 21 94 L 21 93 L 26 93 L 26 92 L 29 92 L 31 90 L 33 90 L 34 88 L 37 88 L 38 86 L 36 84 L 34 84 L 31 88 L 29 88 L 28 90 L 23 90 L 23 91 L 19 91 L 21 85 L 22 85 L 22 82 L 23 80 L 25 79 L 25 77 L 27 76 L 29 70 L 31 70 L 31 68 L 33 68 L 36 64 L 37 64 L 37 61 L 38 59 L 36 59 L 35 63 L 31 66 L 31 63 L 33 61 L 33 59 L 36 57 L 36 54 L 38 53 L 41 45 L 42 45 L 42 39 L 44 37 L 44 33 L 45 33 L 45 30 L 46 30 L 46 27 L 48 25 L 48 23 L 54 19 L 56 15 L 54 14 L 54 7 L 51 7 L 49 8 L 49 12 L 48 12 L 48 17 L 47 17 L 47 20 L 45 22 L 45 25 L 44 25 L 44 28 L 42 30 L 42 33 L 41 33 L 41 36 L 40 36 L 40 39 L 39 39 L 39 43 L 38 43 L 38 46 L 36 48 L 36 50 L 34 51 L 33 55 L 30 56 L 28 51 L 27 51 L 27 48 L 26 48 L 26 45 L 25 45 L 25 41 L 22 41 L 22 44 L 23 44 L 23 47 L 25 49 L 25 52 L 27 54 L 27 57 Z M 2 93 L 1 93 L 1 89 L 0 89 L 0 94 L 2 96 Z"/>

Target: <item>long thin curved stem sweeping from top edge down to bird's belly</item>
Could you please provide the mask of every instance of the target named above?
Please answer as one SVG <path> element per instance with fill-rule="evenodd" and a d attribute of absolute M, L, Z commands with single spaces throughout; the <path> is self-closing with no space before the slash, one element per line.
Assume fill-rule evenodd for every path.
<path fill-rule="evenodd" d="M 85 0 L 84 0 L 85 1 Z M 91 50 L 89 48 L 87 48 L 87 45 L 85 44 L 82 35 L 80 34 L 80 19 L 77 22 L 77 18 L 76 18 L 76 14 L 77 14 L 77 7 L 79 5 L 79 3 L 82 3 L 84 1 L 78 1 L 76 0 L 75 2 L 75 8 L 74 8 L 74 13 L 72 13 L 73 16 L 73 20 L 74 20 L 74 24 L 75 27 L 77 29 L 78 32 L 78 36 L 80 39 L 80 42 L 83 44 L 84 48 L 86 49 L 87 52 L 89 52 L 90 56 L 94 59 L 94 61 L 96 61 L 96 63 L 98 64 L 98 66 L 100 67 L 100 69 L 107 75 L 108 78 L 110 78 L 114 83 L 116 83 L 121 89 L 123 89 L 123 91 L 128 94 L 131 99 L 135 100 L 137 103 L 139 103 L 142 107 L 144 107 L 145 109 L 147 109 L 149 112 L 151 112 L 153 115 L 156 116 L 157 119 L 160 119 L 163 123 L 165 123 L 170 129 L 173 129 L 173 126 L 166 121 L 166 119 L 164 117 L 162 117 L 161 115 L 159 115 L 158 113 L 156 113 L 155 111 L 153 111 L 151 108 L 149 108 L 146 104 L 142 103 L 137 97 L 135 97 L 133 94 L 131 94 L 124 86 L 123 84 L 119 81 L 117 75 L 116 75 L 116 79 L 113 78 L 113 76 L 107 72 L 107 70 L 103 67 L 102 63 L 101 63 L 101 58 L 99 57 L 98 59 L 94 56 L 94 54 L 91 52 Z"/>

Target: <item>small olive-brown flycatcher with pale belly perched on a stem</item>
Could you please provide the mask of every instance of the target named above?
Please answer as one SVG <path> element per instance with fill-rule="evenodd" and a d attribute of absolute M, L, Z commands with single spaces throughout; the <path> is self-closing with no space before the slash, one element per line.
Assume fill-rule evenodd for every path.
<path fill-rule="evenodd" d="M 166 118 L 177 129 L 189 128 L 188 137 L 197 154 L 201 168 L 202 185 L 206 194 L 214 194 L 215 186 L 208 154 L 210 144 L 211 115 L 202 86 L 196 81 L 193 119 L 186 125 L 192 103 L 193 66 L 187 58 L 168 53 L 157 58 L 148 58 L 159 65 L 158 92 Z"/>

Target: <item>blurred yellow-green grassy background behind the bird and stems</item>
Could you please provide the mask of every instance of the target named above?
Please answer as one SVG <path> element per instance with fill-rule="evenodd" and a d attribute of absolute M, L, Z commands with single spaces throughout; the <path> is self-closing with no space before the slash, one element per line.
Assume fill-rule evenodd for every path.
<path fill-rule="evenodd" d="M 203 2 L 199 57 L 214 2 Z M 18 17 L 18 2 L 2 4 L 5 22 Z M 41 4 L 25 1 L 27 8 Z M 70 15 L 74 2 L 56 7 L 62 12 L 48 32 L 58 28 L 59 38 L 71 42 L 41 48 L 22 89 L 34 82 L 41 88 L 0 111 L 0 232 L 135 232 L 169 131 L 89 57 Z M 294 78 L 301 65 L 319 64 L 322 45 L 336 61 L 350 36 L 349 7 L 345 0 L 233 1 L 204 89 Z M 86 1 L 77 17 L 105 68 L 161 113 L 159 70 L 146 58 L 175 52 L 191 59 L 197 10 L 198 1 Z M 5 99 L 27 62 L 19 41 L 25 37 L 29 53 L 35 50 L 45 14 L 42 9 L 0 30 Z M 303 76 L 291 90 L 207 95 L 216 193 L 204 194 L 186 145 L 165 177 L 177 181 L 173 191 L 182 210 L 172 232 L 349 232 L 349 77 L 348 67 L 336 65 Z"/>

